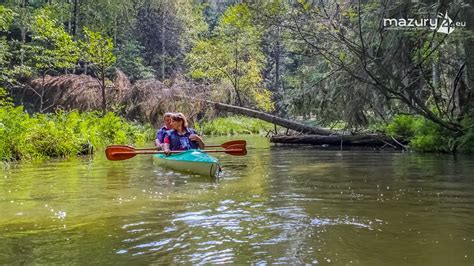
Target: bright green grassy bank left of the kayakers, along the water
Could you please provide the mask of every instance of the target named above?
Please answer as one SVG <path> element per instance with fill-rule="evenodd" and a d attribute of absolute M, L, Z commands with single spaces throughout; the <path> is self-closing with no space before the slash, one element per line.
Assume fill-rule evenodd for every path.
<path fill-rule="evenodd" d="M 29 115 L 5 100 L 0 106 L 0 161 L 90 154 L 111 143 L 141 145 L 153 134 L 150 126 L 132 124 L 113 113 Z"/>

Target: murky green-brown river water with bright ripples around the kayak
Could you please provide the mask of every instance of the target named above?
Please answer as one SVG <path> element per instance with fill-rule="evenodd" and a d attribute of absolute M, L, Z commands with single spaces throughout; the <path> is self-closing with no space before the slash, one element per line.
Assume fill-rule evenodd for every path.
<path fill-rule="evenodd" d="M 4 169 L 0 264 L 474 265 L 473 157 L 255 137 L 216 157 L 219 180 L 148 155 Z"/>

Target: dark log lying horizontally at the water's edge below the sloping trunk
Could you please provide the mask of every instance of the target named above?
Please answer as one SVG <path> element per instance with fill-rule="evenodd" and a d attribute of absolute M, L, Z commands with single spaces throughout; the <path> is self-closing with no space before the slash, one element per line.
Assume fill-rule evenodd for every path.
<path fill-rule="evenodd" d="M 366 146 L 392 148 L 405 148 L 406 141 L 398 141 L 384 135 L 298 135 L 298 136 L 280 136 L 276 135 L 270 138 L 273 143 L 285 144 L 310 144 L 310 145 L 329 145 L 329 146 Z"/>

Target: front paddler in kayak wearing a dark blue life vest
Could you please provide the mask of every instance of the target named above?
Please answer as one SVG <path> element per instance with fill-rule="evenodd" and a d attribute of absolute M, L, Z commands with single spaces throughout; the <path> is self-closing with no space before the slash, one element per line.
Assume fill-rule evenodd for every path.
<path fill-rule="evenodd" d="M 205 144 L 201 137 L 194 129 L 188 128 L 188 121 L 182 113 L 172 114 L 170 125 L 172 129 L 166 131 L 163 139 L 165 154 L 170 151 L 204 149 Z"/>

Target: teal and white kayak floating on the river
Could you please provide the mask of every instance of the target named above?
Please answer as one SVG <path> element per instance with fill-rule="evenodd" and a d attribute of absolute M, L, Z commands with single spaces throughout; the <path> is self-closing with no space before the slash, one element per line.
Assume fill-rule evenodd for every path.
<path fill-rule="evenodd" d="M 170 156 L 155 154 L 153 162 L 180 172 L 208 177 L 216 177 L 220 171 L 218 160 L 200 150 L 187 150 Z"/>

